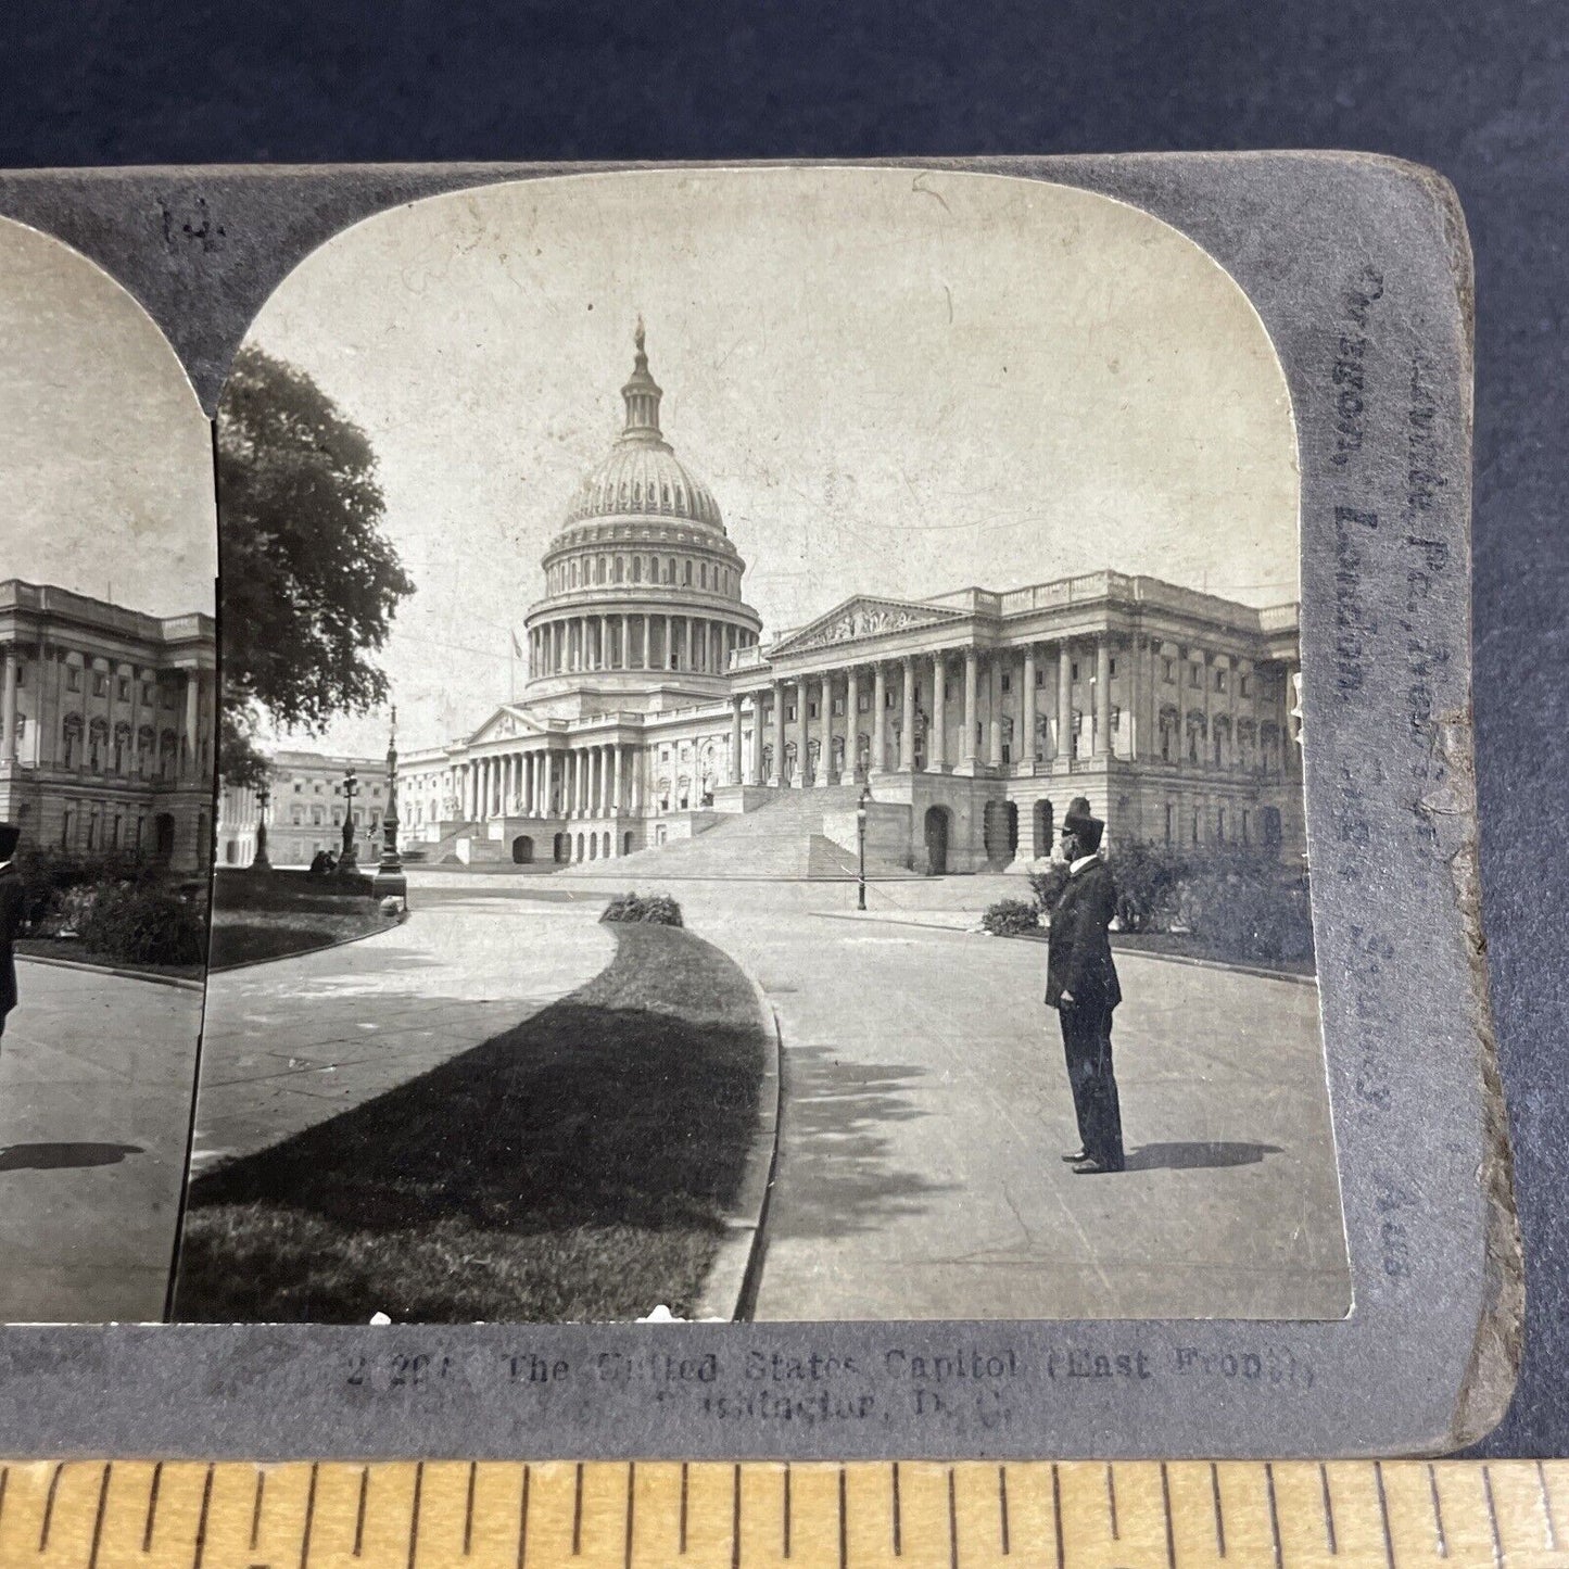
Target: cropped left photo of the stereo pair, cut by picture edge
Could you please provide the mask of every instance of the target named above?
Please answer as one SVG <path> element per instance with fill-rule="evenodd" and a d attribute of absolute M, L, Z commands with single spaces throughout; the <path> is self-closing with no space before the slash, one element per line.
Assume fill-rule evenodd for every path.
<path fill-rule="evenodd" d="M 210 425 L 86 257 L 0 220 L 0 1321 L 158 1321 L 202 1014 Z"/>

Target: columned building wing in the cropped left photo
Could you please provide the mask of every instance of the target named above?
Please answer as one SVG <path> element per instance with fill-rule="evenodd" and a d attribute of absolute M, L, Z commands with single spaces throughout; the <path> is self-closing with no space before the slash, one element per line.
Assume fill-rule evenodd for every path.
<path fill-rule="evenodd" d="M 212 846 L 217 640 L 157 617 L 0 582 L 0 819 L 24 843 L 201 871 Z"/>

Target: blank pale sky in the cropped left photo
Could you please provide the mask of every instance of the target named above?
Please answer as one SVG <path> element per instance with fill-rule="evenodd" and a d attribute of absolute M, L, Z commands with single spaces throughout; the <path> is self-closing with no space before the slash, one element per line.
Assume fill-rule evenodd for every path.
<path fill-rule="evenodd" d="M 210 427 L 108 273 L 0 218 L 0 577 L 212 612 Z"/>

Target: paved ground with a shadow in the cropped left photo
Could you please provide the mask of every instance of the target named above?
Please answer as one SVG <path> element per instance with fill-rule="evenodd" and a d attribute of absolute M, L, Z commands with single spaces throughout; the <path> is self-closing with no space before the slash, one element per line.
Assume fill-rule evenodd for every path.
<path fill-rule="evenodd" d="M 17 965 L 0 1040 L 0 1321 L 163 1316 L 201 992 Z"/>

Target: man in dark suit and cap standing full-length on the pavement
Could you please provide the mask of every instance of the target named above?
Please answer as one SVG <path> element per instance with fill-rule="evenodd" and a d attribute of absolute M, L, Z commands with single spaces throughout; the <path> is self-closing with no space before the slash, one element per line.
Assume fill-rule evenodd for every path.
<path fill-rule="evenodd" d="M 1083 1177 L 1120 1172 L 1122 1108 L 1111 1070 L 1111 1015 L 1122 1001 L 1106 929 L 1117 913 L 1117 885 L 1100 858 L 1106 825 L 1075 800 L 1062 819 L 1068 880 L 1051 910 L 1047 1007 L 1058 1010 L 1081 1149 L 1064 1159 Z"/>

